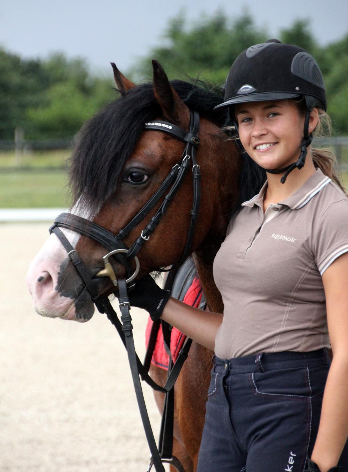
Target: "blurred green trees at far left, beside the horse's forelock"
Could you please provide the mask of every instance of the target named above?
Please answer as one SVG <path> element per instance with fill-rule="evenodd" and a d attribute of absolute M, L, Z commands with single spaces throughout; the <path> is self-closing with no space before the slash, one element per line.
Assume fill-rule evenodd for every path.
<path fill-rule="evenodd" d="M 0 139 L 16 127 L 27 139 L 70 138 L 117 95 L 108 78 L 91 76 L 84 59 L 56 52 L 45 60 L 22 59 L 0 49 Z"/>

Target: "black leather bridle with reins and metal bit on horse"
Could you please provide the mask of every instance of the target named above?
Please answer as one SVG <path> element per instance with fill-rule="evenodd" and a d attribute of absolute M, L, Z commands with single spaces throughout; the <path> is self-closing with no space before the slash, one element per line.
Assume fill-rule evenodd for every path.
<path fill-rule="evenodd" d="M 146 243 L 146 241 L 149 240 L 150 236 L 154 232 L 154 229 L 161 221 L 162 216 L 165 214 L 170 205 L 170 202 L 173 201 L 176 193 L 178 192 L 178 189 L 183 183 L 188 169 L 192 166 L 194 192 L 193 206 L 190 212 L 190 227 L 187 234 L 184 252 L 178 263 L 170 269 L 171 273 L 169 274 L 166 280 L 166 289 L 171 289 L 176 271 L 186 261 L 187 257 L 191 253 L 194 229 L 198 219 L 199 207 L 201 202 L 201 171 L 200 166 L 197 164 L 195 157 L 195 151 L 200 142 L 198 138 L 199 115 L 196 111 L 190 110 L 190 125 L 188 133 L 184 129 L 175 126 L 172 123 L 158 120 L 146 123 L 144 129 L 169 133 L 170 135 L 176 137 L 177 139 L 185 143 L 186 146 L 178 164 L 176 164 L 170 170 L 169 174 L 167 175 L 167 177 L 165 177 L 162 184 L 152 195 L 152 197 L 146 202 L 146 204 L 141 208 L 141 210 L 138 211 L 138 213 L 129 221 L 129 223 L 124 228 L 120 229 L 117 236 L 113 235 L 113 233 L 98 225 L 97 223 L 94 223 L 88 219 L 81 218 L 80 216 L 73 215 L 72 213 L 61 213 L 55 219 L 54 224 L 49 228 L 49 232 L 55 233 L 60 242 L 63 244 L 70 260 L 78 271 L 84 286 L 88 290 L 93 303 L 96 304 L 99 312 L 107 314 L 107 317 L 111 320 L 111 322 L 117 329 L 123 344 L 127 348 L 129 365 L 132 373 L 132 379 L 136 391 L 139 410 L 143 421 L 146 438 L 151 451 L 151 463 L 149 465 L 148 471 L 151 469 L 152 465 L 154 465 L 155 470 L 157 472 L 164 472 L 163 463 L 170 463 L 179 472 L 184 472 L 184 469 L 178 459 L 172 455 L 172 439 L 170 446 L 168 446 L 168 444 L 165 444 L 165 439 L 168 438 L 168 432 L 165 431 L 163 425 L 165 425 L 165 423 L 167 422 L 167 424 L 170 425 L 172 430 L 174 405 L 173 386 L 175 380 L 178 378 L 178 374 L 181 370 L 181 367 L 185 362 L 185 359 L 187 358 L 188 350 L 191 346 L 192 341 L 191 339 L 187 339 L 186 344 L 181 349 L 175 364 L 172 364 L 172 362 L 170 362 L 168 379 L 165 386 L 161 387 L 160 385 L 156 384 L 154 380 L 151 379 L 151 377 L 148 375 L 148 368 L 150 365 L 149 360 L 151 360 L 152 353 L 151 355 L 149 355 L 148 353 L 146 354 L 146 361 L 145 365 L 143 366 L 138 358 L 138 355 L 135 352 L 134 340 L 132 336 L 133 327 L 129 313 L 130 304 L 128 297 L 128 289 L 131 288 L 129 287 L 129 284 L 138 275 L 139 261 L 137 258 L 137 254 L 139 250 Z M 138 236 L 137 240 L 130 246 L 130 248 L 127 248 L 123 243 L 122 239 L 128 236 L 130 231 L 146 217 L 146 215 L 154 208 L 156 203 L 160 201 L 160 199 L 167 191 L 168 193 L 165 195 L 161 205 L 159 206 L 154 216 L 147 223 L 146 227 L 141 231 L 140 236 Z M 97 243 L 102 244 L 109 250 L 109 253 L 107 253 L 103 257 L 105 269 L 99 271 L 96 274 L 96 277 L 110 277 L 113 282 L 113 285 L 115 287 L 118 287 L 121 322 L 117 318 L 117 315 L 114 312 L 108 297 L 105 295 L 99 295 L 97 284 L 91 277 L 89 270 L 84 266 L 79 254 L 69 243 L 68 239 L 59 228 L 69 229 L 83 236 L 88 236 L 91 239 L 97 241 Z M 127 272 L 127 279 L 116 278 L 113 271 L 113 267 L 109 261 L 109 258 L 111 257 L 116 257 L 117 260 L 125 266 Z M 136 269 L 134 271 L 131 263 L 132 260 L 134 260 L 136 263 Z M 168 413 L 169 411 L 169 419 L 168 416 L 167 418 L 162 418 L 161 436 L 159 441 L 159 448 L 161 449 L 161 453 L 159 452 L 154 440 L 154 435 L 146 411 L 146 405 L 142 388 L 140 385 L 139 375 L 152 388 L 161 391 L 166 395 L 163 415 L 165 412 Z"/>

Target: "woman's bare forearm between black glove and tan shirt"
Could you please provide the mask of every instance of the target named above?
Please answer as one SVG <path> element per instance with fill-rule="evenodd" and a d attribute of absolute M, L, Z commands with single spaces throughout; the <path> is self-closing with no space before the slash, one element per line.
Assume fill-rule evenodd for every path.
<path fill-rule="evenodd" d="M 197 343 L 214 351 L 215 336 L 222 322 L 221 313 L 211 313 L 170 297 L 162 313 L 167 321 Z"/>

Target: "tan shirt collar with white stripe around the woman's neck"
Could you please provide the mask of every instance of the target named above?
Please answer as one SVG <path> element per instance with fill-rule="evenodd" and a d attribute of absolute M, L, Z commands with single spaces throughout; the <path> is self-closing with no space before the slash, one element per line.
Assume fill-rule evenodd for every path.
<path fill-rule="evenodd" d="M 286 205 L 292 210 L 299 210 L 299 208 L 305 206 L 306 203 L 308 203 L 309 200 L 313 198 L 318 192 L 320 192 L 320 190 L 322 190 L 322 188 L 324 188 L 324 186 L 329 182 L 331 182 L 331 178 L 325 176 L 320 169 L 316 169 L 316 172 L 312 174 L 306 180 L 306 182 L 296 190 L 294 194 L 278 203 L 281 205 Z M 242 203 L 242 206 L 253 207 L 254 204 L 261 206 L 267 185 L 268 182 L 266 180 L 259 193 L 251 198 L 251 200 L 248 202 Z"/>

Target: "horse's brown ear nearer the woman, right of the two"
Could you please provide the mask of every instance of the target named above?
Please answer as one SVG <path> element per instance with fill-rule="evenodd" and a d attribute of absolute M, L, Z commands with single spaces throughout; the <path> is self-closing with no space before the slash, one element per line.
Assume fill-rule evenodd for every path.
<path fill-rule="evenodd" d="M 154 95 L 162 108 L 164 118 L 186 129 L 190 122 L 190 111 L 170 85 L 161 64 L 153 59 L 152 67 L 154 69 Z"/>

